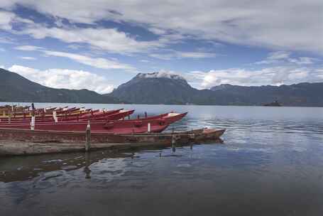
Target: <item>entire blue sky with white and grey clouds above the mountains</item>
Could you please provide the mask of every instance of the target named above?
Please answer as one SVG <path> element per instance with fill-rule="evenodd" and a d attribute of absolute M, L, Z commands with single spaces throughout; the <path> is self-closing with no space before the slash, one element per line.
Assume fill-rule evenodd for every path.
<path fill-rule="evenodd" d="M 322 0 L 1 0 L 0 68 L 109 93 L 138 72 L 197 89 L 323 82 Z"/>

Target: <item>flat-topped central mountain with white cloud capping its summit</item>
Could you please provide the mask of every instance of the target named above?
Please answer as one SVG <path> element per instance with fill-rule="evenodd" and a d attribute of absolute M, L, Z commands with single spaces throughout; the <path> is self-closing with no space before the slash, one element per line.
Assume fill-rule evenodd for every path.
<path fill-rule="evenodd" d="M 199 97 L 202 95 L 206 97 L 207 92 L 202 94 L 202 91 L 191 87 L 179 75 L 153 72 L 138 73 L 136 77 L 120 85 L 109 95 L 136 104 L 204 104 Z M 212 98 L 205 102 L 212 102 Z"/>

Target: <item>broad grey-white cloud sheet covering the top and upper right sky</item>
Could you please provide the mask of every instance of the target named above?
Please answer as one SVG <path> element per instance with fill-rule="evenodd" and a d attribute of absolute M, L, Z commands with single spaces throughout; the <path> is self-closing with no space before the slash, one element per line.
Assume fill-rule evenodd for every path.
<path fill-rule="evenodd" d="M 17 2 L 74 23 L 126 21 L 146 24 L 157 34 L 171 30 L 227 43 L 323 51 L 321 0 L 204 0 L 198 4 L 187 4 L 184 0 L 172 1 L 172 4 L 150 0 L 67 0 L 64 4 L 50 0 L 3 0 L 0 7 L 12 9 Z M 4 28 L 9 28 L 7 22 Z"/>

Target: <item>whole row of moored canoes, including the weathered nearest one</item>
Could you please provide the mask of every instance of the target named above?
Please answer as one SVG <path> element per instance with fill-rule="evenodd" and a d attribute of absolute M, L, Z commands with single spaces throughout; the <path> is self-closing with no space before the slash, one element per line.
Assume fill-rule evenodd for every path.
<path fill-rule="evenodd" d="M 152 117 L 145 114 L 143 118 L 131 119 L 134 110 L 125 109 L 22 107 L 14 109 L 14 114 L 9 108 L 3 109 L 9 112 L 0 117 L 0 155 L 79 151 L 89 148 L 89 144 L 92 149 L 124 149 L 219 141 L 225 131 L 195 129 L 160 133 L 185 117 L 187 112 L 169 112 Z"/>

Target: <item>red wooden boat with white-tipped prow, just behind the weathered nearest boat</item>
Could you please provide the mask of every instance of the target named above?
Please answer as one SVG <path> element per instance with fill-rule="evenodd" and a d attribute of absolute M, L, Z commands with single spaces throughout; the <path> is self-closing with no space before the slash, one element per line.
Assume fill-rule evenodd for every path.
<path fill-rule="evenodd" d="M 143 119 L 110 121 L 91 121 L 91 130 L 97 133 L 106 134 L 137 134 L 146 132 L 161 132 L 170 124 L 185 117 L 186 113 L 168 113 L 156 117 L 148 117 Z M 119 118 L 120 116 L 118 116 Z M 120 118 L 119 118 L 120 119 Z M 0 128 L 11 129 L 31 129 L 31 124 L 0 124 Z M 62 121 L 57 123 L 35 123 L 37 130 L 48 131 L 85 131 L 87 129 L 87 121 Z"/>

